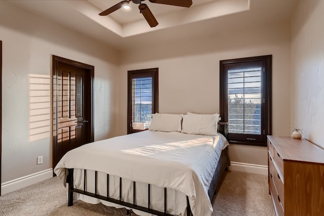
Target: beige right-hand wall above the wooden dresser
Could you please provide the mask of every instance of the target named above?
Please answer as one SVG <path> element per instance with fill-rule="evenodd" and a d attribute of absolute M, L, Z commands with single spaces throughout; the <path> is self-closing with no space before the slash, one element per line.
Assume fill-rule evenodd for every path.
<path fill-rule="evenodd" d="M 292 18 L 291 125 L 324 148 L 324 1 L 301 1 Z"/>

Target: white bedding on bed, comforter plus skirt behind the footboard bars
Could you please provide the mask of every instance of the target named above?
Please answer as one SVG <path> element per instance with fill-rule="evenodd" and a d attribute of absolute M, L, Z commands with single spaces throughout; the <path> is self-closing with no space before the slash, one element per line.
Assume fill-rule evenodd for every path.
<path fill-rule="evenodd" d="M 76 170 L 74 179 L 78 180 L 74 181 L 74 187 L 83 189 L 82 169 L 87 169 L 89 172 L 86 180 L 87 190 L 94 191 L 94 184 L 91 184 L 94 175 L 91 175 L 91 170 L 97 170 L 99 171 L 97 191 L 103 195 L 107 187 L 104 179 L 106 174 L 110 174 L 112 181 L 109 195 L 116 198 L 119 196 L 119 189 L 118 193 L 114 192 L 119 188 L 121 177 L 122 198 L 127 202 L 132 202 L 131 186 L 135 181 L 138 205 L 147 203 L 147 184 L 151 184 L 151 197 L 155 199 L 151 200 L 151 208 L 154 206 L 156 210 L 163 210 L 161 195 L 164 188 L 167 188 L 167 207 L 171 214 L 185 215 L 188 196 L 193 215 L 211 215 L 213 209 L 208 189 L 221 151 L 227 145 L 228 142 L 221 134 L 203 136 L 145 131 L 73 149 L 63 156 L 54 171 L 62 179 L 65 177 L 66 168 L 74 168 Z M 121 207 L 84 195 L 76 195 L 75 198 L 90 203 L 102 202 Z M 144 212 L 134 212 L 146 215 Z"/>

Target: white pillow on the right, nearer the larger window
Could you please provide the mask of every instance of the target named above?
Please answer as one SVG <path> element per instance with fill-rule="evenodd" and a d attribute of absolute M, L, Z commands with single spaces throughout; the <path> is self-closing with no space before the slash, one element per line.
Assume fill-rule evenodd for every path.
<path fill-rule="evenodd" d="M 182 133 L 216 136 L 219 114 L 194 114 L 182 116 Z"/>

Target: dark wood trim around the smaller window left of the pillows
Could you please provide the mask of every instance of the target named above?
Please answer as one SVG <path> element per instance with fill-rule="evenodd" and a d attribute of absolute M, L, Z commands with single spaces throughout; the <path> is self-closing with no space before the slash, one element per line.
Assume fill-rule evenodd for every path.
<path fill-rule="evenodd" d="M 152 77 L 152 113 L 158 112 L 158 68 L 128 71 L 127 134 L 138 132 L 132 127 L 132 79 Z"/>

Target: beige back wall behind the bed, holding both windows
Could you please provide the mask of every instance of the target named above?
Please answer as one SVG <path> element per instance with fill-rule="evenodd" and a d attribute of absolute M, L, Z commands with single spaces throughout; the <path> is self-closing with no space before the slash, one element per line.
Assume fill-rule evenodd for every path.
<path fill-rule="evenodd" d="M 127 71 L 159 68 L 159 112 L 219 112 L 219 61 L 273 55 L 273 135 L 290 135 L 290 23 L 123 52 L 119 134 L 127 133 Z M 267 165 L 266 147 L 231 145 L 232 161 Z"/>

